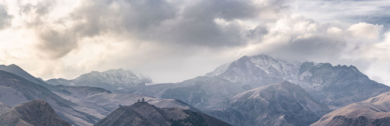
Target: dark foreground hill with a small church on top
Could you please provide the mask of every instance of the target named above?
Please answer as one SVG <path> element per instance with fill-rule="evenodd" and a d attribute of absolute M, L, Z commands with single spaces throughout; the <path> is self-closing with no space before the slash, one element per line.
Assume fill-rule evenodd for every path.
<path fill-rule="evenodd" d="M 122 106 L 95 126 L 231 126 L 203 113 L 181 108 L 157 108 L 146 102 Z"/>

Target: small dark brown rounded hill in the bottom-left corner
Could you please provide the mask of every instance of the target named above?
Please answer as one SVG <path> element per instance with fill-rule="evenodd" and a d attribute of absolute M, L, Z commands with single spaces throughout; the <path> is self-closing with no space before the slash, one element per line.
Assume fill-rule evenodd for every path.
<path fill-rule="evenodd" d="M 33 100 L 0 113 L 1 126 L 71 126 L 48 103 Z"/>

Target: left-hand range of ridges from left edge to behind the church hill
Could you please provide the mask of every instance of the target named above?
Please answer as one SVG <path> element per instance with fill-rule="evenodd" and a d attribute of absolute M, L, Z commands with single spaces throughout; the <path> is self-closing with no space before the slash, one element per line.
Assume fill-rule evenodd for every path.
<path fill-rule="evenodd" d="M 41 99 L 47 101 L 61 119 L 75 126 L 92 126 L 118 108 L 120 104 L 130 105 L 142 97 L 151 99 L 150 103 L 159 107 L 197 110 L 185 102 L 174 99 L 156 99 L 140 94 L 117 95 L 109 90 L 88 86 L 49 85 L 16 65 L 4 66 L 2 65 L 2 70 L 9 72 L 0 70 L 0 102 L 13 107 L 24 102 Z M 36 84 L 10 72 L 41 82 Z M 45 86 L 49 88 L 45 88 Z M 87 97 L 89 100 L 83 99 Z"/>

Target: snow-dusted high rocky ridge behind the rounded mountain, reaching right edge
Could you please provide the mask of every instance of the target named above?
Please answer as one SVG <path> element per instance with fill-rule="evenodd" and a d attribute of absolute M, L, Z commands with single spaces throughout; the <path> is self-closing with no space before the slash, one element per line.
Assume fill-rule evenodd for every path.
<path fill-rule="evenodd" d="M 329 63 L 289 63 L 268 55 L 243 56 L 206 76 L 217 76 L 244 89 L 287 80 L 307 90 L 315 100 L 336 108 L 363 101 L 390 90 L 370 80 L 355 67 L 332 66 Z"/>

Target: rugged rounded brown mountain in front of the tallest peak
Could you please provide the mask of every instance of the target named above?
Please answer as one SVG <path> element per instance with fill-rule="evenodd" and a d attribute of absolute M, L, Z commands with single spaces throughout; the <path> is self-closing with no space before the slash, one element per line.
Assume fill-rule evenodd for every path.
<path fill-rule="evenodd" d="M 298 85 L 283 81 L 237 94 L 227 108 L 206 113 L 234 126 L 309 126 L 329 111 Z"/>

